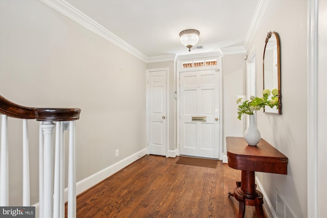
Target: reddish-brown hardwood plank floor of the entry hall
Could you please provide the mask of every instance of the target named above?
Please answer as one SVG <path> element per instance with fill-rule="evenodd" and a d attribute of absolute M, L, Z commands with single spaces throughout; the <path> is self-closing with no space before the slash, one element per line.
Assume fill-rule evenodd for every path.
<path fill-rule="evenodd" d="M 77 217 L 237 217 L 238 201 L 228 198 L 241 171 L 175 163 L 146 155 L 77 197 Z M 257 217 L 246 206 L 245 217 Z"/>

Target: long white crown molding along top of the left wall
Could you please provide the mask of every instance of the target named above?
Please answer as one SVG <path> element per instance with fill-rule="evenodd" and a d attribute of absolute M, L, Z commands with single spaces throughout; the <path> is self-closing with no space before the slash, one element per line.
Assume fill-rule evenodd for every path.
<path fill-rule="evenodd" d="M 136 50 L 130 44 L 126 43 L 118 36 L 114 35 L 96 21 L 92 20 L 90 17 L 86 16 L 81 11 L 74 8 L 72 5 L 69 5 L 64 0 L 40 0 L 44 4 L 50 6 L 51 8 L 57 10 L 58 12 L 62 13 L 63 15 L 71 18 L 72 20 L 76 21 L 83 27 L 89 29 L 90 31 L 98 34 L 99 36 L 103 37 L 104 39 L 110 41 L 111 43 L 119 46 L 121 49 L 125 50 L 126 52 L 130 53 L 131 55 L 135 56 L 138 59 L 141 59 L 144 62 L 148 61 L 148 57 Z"/>

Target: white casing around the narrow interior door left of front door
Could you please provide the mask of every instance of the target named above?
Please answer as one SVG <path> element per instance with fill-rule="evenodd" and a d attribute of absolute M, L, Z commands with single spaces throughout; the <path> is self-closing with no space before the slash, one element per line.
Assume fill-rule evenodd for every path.
<path fill-rule="evenodd" d="M 166 70 L 166 157 L 169 157 L 169 67 L 165 68 L 154 68 L 154 69 L 147 69 L 146 70 L 146 84 L 147 84 L 147 90 L 146 90 L 146 138 L 147 138 L 147 154 L 149 155 L 149 140 L 150 140 L 150 135 L 149 135 L 149 113 L 150 113 L 150 104 L 149 104 L 149 75 L 150 72 L 155 72 L 155 71 L 163 71 Z"/>

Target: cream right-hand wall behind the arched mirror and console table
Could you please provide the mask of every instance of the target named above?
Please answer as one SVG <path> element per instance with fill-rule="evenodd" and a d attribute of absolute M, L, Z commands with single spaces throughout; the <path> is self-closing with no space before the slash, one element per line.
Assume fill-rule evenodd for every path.
<path fill-rule="evenodd" d="M 256 50 L 256 94 L 262 95 L 267 33 L 281 41 L 282 115 L 257 114 L 262 138 L 289 158 L 288 175 L 258 173 L 272 206 L 276 190 L 296 217 L 307 217 L 307 1 L 270 1 L 250 45 Z"/>

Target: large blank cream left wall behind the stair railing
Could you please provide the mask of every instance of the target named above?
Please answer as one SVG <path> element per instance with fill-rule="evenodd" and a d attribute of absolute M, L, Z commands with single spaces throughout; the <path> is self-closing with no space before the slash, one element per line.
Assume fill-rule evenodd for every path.
<path fill-rule="evenodd" d="M 146 63 L 38 0 L 0 1 L 0 94 L 31 107 L 81 108 L 77 181 L 146 148 Z M 10 120 L 11 121 L 11 120 Z M 10 191 L 21 191 L 21 142 L 10 124 Z M 38 130 L 29 122 L 32 201 Z M 119 157 L 114 150 L 119 149 Z M 16 171 L 17 170 L 17 171 Z M 20 197 L 10 199 L 20 205 Z M 16 203 L 17 202 L 17 203 Z"/>

